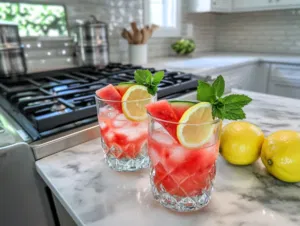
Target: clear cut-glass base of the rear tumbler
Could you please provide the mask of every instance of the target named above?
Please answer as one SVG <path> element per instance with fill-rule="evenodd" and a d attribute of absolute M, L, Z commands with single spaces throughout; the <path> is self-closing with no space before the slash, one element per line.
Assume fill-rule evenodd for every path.
<path fill-rule="evenodd" d="M 132 172 L 148 168 L 150 165 L 150 159 L 147 154 L 147 144 L 143 145 L 139 154 L 135 158 L 116 158 L 118 153 L 122 153 L 123 151 L 114 146 L 108 148 L 102 139 L 101 142 L 102 148 L 104 149 L 105 162 L 113 170 Z"/>

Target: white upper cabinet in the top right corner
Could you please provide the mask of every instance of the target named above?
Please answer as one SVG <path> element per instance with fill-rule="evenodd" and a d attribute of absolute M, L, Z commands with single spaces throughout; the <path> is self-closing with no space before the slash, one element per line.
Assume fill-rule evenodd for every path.
<path fill-rule="evenodd" d="M 232 0 L 233 12 L 300 8 L 300 0 Z"/>

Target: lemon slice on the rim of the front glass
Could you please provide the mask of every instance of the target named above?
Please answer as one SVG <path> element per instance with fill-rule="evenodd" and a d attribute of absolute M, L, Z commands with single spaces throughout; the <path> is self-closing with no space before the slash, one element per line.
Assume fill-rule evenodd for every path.
<path fill-rule="evenodd" d="M 186 148 L 198 148 L 211 138 L 212 107 L 208 102 L 201 102 L 184 112 L 177 126 L 177 138 Z"/>

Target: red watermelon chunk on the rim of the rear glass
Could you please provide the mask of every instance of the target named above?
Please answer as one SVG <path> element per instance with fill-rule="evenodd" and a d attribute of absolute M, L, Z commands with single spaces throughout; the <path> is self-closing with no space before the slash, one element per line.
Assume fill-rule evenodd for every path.
<path fill-rule="evenodd" d="M 122 112 L 122 96 L 113 85 L 109 84 L 102 89 L 98 89 L 96 95 L 106 104 L 112 106 L 119 112 Z"/>

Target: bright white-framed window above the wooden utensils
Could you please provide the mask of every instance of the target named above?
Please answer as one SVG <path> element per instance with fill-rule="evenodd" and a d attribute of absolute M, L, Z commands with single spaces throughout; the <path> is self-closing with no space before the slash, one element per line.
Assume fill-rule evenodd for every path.
<path fill-rule="evenodd" d="M 144 23 L 157 24 L 156 37 L 180 36 L 181 0 L 144 0 Z"/>

